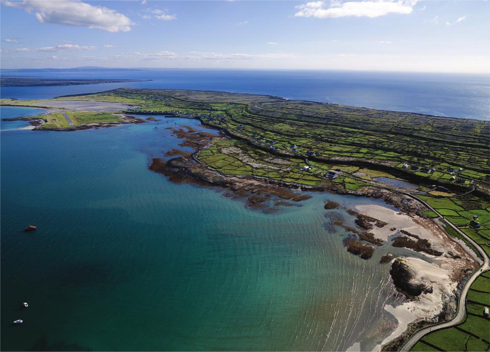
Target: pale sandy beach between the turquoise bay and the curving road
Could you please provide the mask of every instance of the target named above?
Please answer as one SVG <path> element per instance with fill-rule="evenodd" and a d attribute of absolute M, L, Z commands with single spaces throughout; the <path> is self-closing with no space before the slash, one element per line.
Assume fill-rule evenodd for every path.
<path fill-rule="evenodd" d="M 460 242 L 447 235 L 437 220 L 374 204 L 360 205 L 356 209 L 388 224 L 370 231 L 375 237 L 386 241 L 384 246 L 390 246 L 393 253 L 396 248 L 391 243 L 395 237 L 403 235 L 400 230 L 430 241 L 434 249 L 443 253 L 441 256 L 433 256 L 409 249 L 414 252 L 414 256 L 402 256 L 401 260 L 416 273 L 416 280 L 430 286 L 432 292 L 422 293 L 413 300 L 406 299 L 400 305 L 385 305 L 384 309 L 397 320 L 398 326 L 373 351 L 380 351 L 384 345 L 398 338 L 413 322 L 437 323 L 441 319 L 450 319 L 455 313 L 460 283 L 478 265 L 476 255 L 468 253 Z M 396 255 L 392 262 L 395 258 Z"/>

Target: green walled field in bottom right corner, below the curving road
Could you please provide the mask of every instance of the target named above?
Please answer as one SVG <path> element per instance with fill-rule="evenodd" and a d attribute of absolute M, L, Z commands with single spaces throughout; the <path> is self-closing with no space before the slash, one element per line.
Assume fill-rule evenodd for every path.
<path fill-rule="evenodd" d="M 483 315 L 489 297 L 490 279 L 480 275 L 469 290 L 466 321 L 425 335 L 411 351 L 489 351 L 490 320 Z"/>

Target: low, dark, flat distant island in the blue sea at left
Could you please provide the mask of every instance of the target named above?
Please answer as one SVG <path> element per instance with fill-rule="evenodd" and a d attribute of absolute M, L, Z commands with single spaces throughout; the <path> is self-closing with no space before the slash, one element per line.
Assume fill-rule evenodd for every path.
<path fill-rule="evenodd" d="M 79 84 L 146 82 L 142 79 L 51 79 L 32 77 L 2 77 L 0 87 L 39 87 L 39 86 L 72 86 Z"/>

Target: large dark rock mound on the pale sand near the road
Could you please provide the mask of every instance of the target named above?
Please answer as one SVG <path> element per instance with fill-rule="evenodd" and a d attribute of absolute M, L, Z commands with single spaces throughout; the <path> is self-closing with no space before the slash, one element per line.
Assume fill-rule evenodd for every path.
<path fill-rule="evenodd" d="M 432 293 L 430 282 L 424 282 L 402 258 L 396 258 L 390 270 L 396 289 L 413 300 L 422 293 Z"/>

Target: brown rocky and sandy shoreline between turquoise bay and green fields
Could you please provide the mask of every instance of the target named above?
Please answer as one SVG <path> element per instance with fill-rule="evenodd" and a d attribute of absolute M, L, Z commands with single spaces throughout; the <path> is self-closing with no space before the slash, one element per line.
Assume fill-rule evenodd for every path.
<path fill-rule="evenodd" d="M 394 248 L 404 247 L 408 250 L 426 255 L 429 258 L 442 258 L 439 259 L 439 264 L 435 265 L 435 267 L 440 268 L 438 270 L 444 273 L 444 275 L 447 274 L 447 276 L 444 276 L 447 280 L 444 279 L 445 281 L 443 282 L 438 282 L 436 279 L 434 279 L 436 280 L 434 282 L 427 281 L 423 276 L 421 277 L 420 268 L 417 269 L 416 265 L 418 262 L 414 263 L 415 258 L 403 258 L 387 254 L 380 259 L 380 265 L 389 262 L 392 263 L 390 275 L 393 285 L 407 297 L 404 306 L 407 305 L 409 311 L 413 314 L 410 318 L 411 320 L 405 322 L 406 325 L 401 326 L 401 328 L 404 327 L 401 332 L 396 336 L 392 336 L 389 340 L 384 341 L 383 351 L 399 349 L 403 342 L 420 327 L 434 324 L 441 320 L 451 319 L 455 312 L 454 307 L 459 294 L 458 287 L 460 285 L 458 283 L 467 277 L 471 268 L 476 267 L 476 260 L 471 258 L 461 244 L 451 239 L 438 225 L 433 225 L 434 228 L 431 228 L 432 225 L 423 222 L 431 222 L 433 220 L 424 219 L 417 215 L 420 211 L 426 210 L 422 204 L 406 195 L 374 187 L 365 187 L 352 191 L 338 187 L 338 185 L 332 185 L 331 187 L 305 186 L 263 177 L 224 175 L 201 163 L 197 156 L 200 150 L 211 145 L 212 140 L 228 139 L 229 137 L 223 134 L 214 135 L 196 131 L 193 128 L 189 128 L 189 126 L 187 126 L 187 131 L 182 128 L 176 129 L 173 127 L 168 127 L 168 129 L 172 130 L 174 136 L 183 140 L 180 143 L 181 146 L 192 147 L 195 150 L 195 153 L 189 153 L 179 149 L 173 149 L 167 152 L 167 156 L 175 156 L 174 158 L 170 160 L 153 158 L 151 160 L 148 166 L 149 169 L 165 175 L 172 182 L 216 187 L 220 190 L 224 189 L 226 190 L 224 196 L 243 199 L 247 207 L 267 212 L 275 211 L 277 206 L 294 205 L 297 202 L 310 198 L 308 195 L 301 194 L 301 191 L 321 191 L 382 199 L 385 203 L 399 209 L 401 211 L 398 213 L 400 216 L 404 214 L 404 216 L 413 218 L 417 224 L 419 222 L 423 223 L 421 228 L 425 231 L 429 233 L 434 231 L 439 232 L 438 236 L 445 238 L 434 237 L 436 243 L 439 240 L 441 242 L 437 243 L 437 246 L 434 247 L 434 243 L 421 234 L 412 234 L 407 230 L 399 228 L 397 230 L 397 227 L 390 224 L 388 220 L 385 221 L 377 216 L 371 216 L 364 213 L 364 211 L 344 209 L 344 211 L 356 216 L 355 224 L 359 229 L 354 229 L 344 224 L 342 217 L 335 216 L 335 211 L 329 213 L 332 216 L 331 226 L 341 226 L 352 234 L 347 236 L 343 241 L 346 250 L 362 259 L 371 258 L 377 247 L 387 243 L 387 239 L 379 238 L 378 235 L 380 232 L 395 233 L 397 231 L 400 235 L 392 241 Z M 340 206 L 335 202 L 330 201 L 325 203 L 325 209 L 327 211 L 337 208 L 340 208 Z M 444 242 L 444 251 L 441 250 L 442 242 Z M 448 245 L 449 242 L 450 244 Z M 446 254 L 452 253 L 454 256 L 442 256 L 443 252 Z M 454 264 L 456 262 L 458 264 Z M 430 263 L 426 264 L 429 265 Z M 432 296 L 428 298 L 429 295 Z M 427 302 L 428 305 L 428 308 L 425 310 L 423 308 L 425 305 L 424 302 Z M 399 319 L 396 312 L 391 311 L 391 313 Z M 399 322 L 399 324 L 402 324 L 400 320 Z"/>

